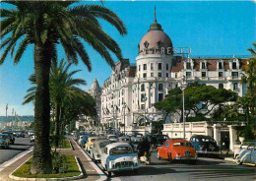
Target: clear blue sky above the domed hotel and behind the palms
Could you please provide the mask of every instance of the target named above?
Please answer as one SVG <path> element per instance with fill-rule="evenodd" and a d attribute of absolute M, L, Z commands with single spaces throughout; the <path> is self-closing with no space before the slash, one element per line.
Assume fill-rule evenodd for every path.
<path fill-rule="evenodd" d="M 79 2 L 77 4 L 98 4 Z M 120 45 L 123 57 L 135 63 L 138 43 L 154 21 L 157 6 L 157 20 L 170 36 L 174 47 L 191 47 L 192 55 L 248 55 L 248 47 L 256 42 L 256 4 L 251 1 L 106 1 L 104 6 L 114 11 L 123 20 L 128 34 L 121 36 L 109 24 L 100 21 L 103 30 Z M 1 8 L 11 8 L 1 3 Z M 93 71 L 85 65 L 72 66 L 82 70 L 76 77 L 85 79 L 90 89 L 96 78 L 101 86 L 111 74 L 110 67 L 88 44 L 85 44 L 92 60 Z M 58 57 L 65 58 L 62 48 Z M 1 52 L 2 53 L 2 52 Z M 117 61 L 117 58 L 114 57 Z M 0 66 L 0 115 L 5 115 L 5 104 L 9 104 L 19 115 L 32 115 L 32 104 L 22 105 L 26 91 L 31 88 L 28 78 L 33 73 L 32 46 L 29 46 L 16 66 L 8 55 Z"/>

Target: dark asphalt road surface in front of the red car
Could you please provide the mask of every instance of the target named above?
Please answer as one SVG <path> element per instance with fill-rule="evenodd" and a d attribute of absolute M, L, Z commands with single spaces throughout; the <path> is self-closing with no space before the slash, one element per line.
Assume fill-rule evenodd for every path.
<path fill-rule="evenodd" d="M 97 164 L 101 169 L 100 163 Z M 106 173 L 105 173 L 106 174 Z M 159 160 L 156 152 L 152 153 L 152 163 L 141 163 L 139 173 L 123 171 L 113 173 L 108 180 L 122 181 L 255 181 L 256 167 L 236 165 L 223 159 L 200 157 L 196 164 L 184 162 L 169 163 Z"/>

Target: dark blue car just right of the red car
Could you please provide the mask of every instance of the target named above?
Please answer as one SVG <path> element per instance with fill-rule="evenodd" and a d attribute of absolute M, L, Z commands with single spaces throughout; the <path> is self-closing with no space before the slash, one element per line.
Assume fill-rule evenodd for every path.
<path fill-rule="evenodd" d="M 198 153 L 219 153 L 220 151 L 215 139 L 210 136 L 195 135 L 190 138 L 189 142 Z"/>

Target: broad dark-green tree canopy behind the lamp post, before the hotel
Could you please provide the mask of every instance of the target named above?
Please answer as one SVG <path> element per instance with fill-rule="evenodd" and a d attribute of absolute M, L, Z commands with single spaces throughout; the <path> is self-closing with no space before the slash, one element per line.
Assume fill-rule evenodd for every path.
<path fill-rule="evenodd" d="M 227 101 L 235 101 L 237 93 L 224 89 L 216 89 L 212 86 L 200 85 L 195 82 L 184 91 L 185 116 L 194 113 L 195 116 L 206 116 L 214 110 L 217 105 Z M 204 103 L 204 106 L 200 105 Z M 180 88 L 168 91 L 165 98 L 154 104 L 154 106 L 166 113 L 178 113 L 182 116 L 182 91 Z M 204 110 L 204 112 L 202 112 Z"/>

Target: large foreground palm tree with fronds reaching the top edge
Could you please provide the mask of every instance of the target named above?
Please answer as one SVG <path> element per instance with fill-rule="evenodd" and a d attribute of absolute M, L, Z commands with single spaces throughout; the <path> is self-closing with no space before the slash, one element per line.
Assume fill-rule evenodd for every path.
<path fill-rule="evenodd" d="M 0 65 L 10 52 L 14 63 L 21 60 L 29 44 L 33 45 L 33 63 L 36 79 L 34 103 L 34 150 L 32 174 L 51 173 L 49 147 L 50 99 L 49 72 L 51 62 L 57 62 L 56 44 L 61 44 L 70 63 L 78 63 L 78 57 L 92 70 L 91 61 L 80 38 L 88 42 L 112 66 L 110 50 L 122 58 L 118 44 L 100 27 L 102 19 L 116 28 L 120 34 L 127 30 L 112 11 L 99 5 L 78 5 L 74 2 L 25 2 L 6 1 L 16 9 L 0 9 L 0 49 L 4 49 Z M 16 45 L 19 47 L 16 50 Z"/>

